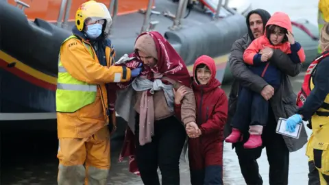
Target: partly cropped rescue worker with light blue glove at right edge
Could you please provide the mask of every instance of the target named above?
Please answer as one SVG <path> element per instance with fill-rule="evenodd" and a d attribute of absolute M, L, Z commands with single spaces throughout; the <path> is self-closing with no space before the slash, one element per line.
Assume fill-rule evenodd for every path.
<path fill-rule="evenodd" d="M 320 32 L 320 47 L 324 53 L 316 65 L 308 67 L 311 73 L 306 101 L 297 114 L 287 119 L 287 130 L 294 132 L 298 123 L 310 121 L 312 134 L 308 140 L 308 184 L 329 184 L 329 23 Z M 315 60 L 315 61 L 316 61 Z M 311 64 L 312 65 L 312 64 Z M 311 69 L 313 67 L 313 69 Z M 311 69 L 311 70 L 309 70 Z"/>

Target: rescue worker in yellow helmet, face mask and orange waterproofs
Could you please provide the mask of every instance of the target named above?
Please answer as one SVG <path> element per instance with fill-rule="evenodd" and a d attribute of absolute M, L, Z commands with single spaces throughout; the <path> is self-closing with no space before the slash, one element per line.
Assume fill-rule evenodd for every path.
<path fill-rule="evenodd" d="M 114 64 L 106 35 L 112 23 L 103 3 L 87 1 L 77 10 L 73 35 L 60 47 L 56 110 L 58 184 L 106 184 L 110 133 L 106 83 L 127 82 L 141 73 Z"/>

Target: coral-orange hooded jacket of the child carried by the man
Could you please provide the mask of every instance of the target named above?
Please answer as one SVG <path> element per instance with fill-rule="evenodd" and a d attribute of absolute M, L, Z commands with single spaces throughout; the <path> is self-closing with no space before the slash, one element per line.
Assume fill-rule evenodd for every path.
<path fill-rule="evenodd" d="M 290 18 L 287 14 L 284 12 L 276 12 L 269 18 L 269 21 L 267 21 L 266 27 L 269 25 L 278 25 L 280 27 L 284 27 L 289 32 L 293 32 L 293 27 L 291 25 Z M 289 54 L 291 53 L 291 45 L 289 42 L 284 42 L 279 45 L 271 45 L 271 42 L 269 42 L 269 39 L 266 36 L 266 29 L 263 36 L 260 36 L 252 41 L 252 43 L 247 47 L 245 52 L 243 53 L 243 60 L 247 64 L 254 64 L 254 56 L 260 51 L 261 49 L 264 49 L 265 47 L 270 47 L 273 49 L 280 49 L 282 52 Z M 297 55 L 300 58 L 301 62 L 305 61 L 305 53 L 304 49 L 301 47 L 297 51 Z"/>

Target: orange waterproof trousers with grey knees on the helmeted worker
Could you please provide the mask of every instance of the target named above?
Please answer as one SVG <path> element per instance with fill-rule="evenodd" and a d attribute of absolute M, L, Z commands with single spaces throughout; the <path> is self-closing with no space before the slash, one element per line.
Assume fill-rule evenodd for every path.
<path fill-rule="evenodd" d="M 108 127 L 88 138 L 60 138 L 59 185 L 105 185 L 110 170 Z"/>

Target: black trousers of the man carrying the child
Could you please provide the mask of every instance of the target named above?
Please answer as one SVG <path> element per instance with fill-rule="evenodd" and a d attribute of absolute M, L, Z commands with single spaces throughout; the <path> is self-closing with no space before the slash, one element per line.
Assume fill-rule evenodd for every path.
<path fill-rule="evenodd" d="M 276 119 L 273 112 L 269 109 L 269 119 L 267 127 L 263 130 L 263 147 L 266 147 L 267 160 L 269 161 L 269 184 L 287 185 L 289 173 L 289 150 L 280 134 L 276 134 Z M 249 135 L 244 134 L 245 142 Z M 243 143 L 234 145 L 236 154 L 239 158 L 241 173 L 248 185 L 263 184 L 262 177 L 259 174 L 258 159 L 262 153 L 263 147 L 256 149 L 245 149 Z"/>

